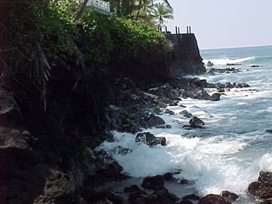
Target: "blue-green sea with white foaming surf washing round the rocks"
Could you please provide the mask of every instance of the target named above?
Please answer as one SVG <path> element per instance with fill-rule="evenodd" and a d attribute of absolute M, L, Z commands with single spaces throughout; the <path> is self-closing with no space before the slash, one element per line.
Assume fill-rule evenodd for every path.
<path fill-rule="evenodd" d="M 164 147 L 136 144 L 134 134 L 113 131 L 115 143 L 105 142 L 99 148 L 132 150 L 113 154 L 131 177 L 181 170 L 175 177 L 193 180 L 191 187 L 200 196 L 227 190 L 240 195 L 240 203 L 256 203 L 247 194 L 248 185 L 257 180 L 260 170 L 272 171 L 272 133 L 266 131 L 272 129 L 272 46 L 201 50 L 201 56 L 204 63 L 212 61 L 214 68 L 235 67 L 240 72 L 197 77 L 213 83 L 246 82 L 250 88 L 231 89 L 220 101 L 181 99 L 177 106 L 168 107 L 176 115 L 159 117 L 171 129 L 144 130 L 164 136 Z M 206 129 L 182 129 L 189 122 L 179 114 L 182 110 L 202 119 Z"/>

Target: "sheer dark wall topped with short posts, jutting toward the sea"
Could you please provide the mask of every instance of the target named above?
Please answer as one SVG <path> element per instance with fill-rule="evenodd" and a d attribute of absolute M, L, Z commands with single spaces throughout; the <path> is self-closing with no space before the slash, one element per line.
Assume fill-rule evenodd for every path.
<path fill-rule="evenodd" d="M 173 51 L 167 61 L 171 77 L 205 73 L 194 34 L 168 34 L 166 37 L 173 43 Z"/>

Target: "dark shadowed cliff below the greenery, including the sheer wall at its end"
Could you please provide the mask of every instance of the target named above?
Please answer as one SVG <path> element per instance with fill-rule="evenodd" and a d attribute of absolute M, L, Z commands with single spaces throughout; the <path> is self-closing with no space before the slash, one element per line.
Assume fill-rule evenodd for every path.
<path fill-rule="evenodd" d="M 122 167 L 110 155 L 92 152 L 103 140 L 113 140 L 107 108 L 127 108 L 122 112 L 112 108 L 113 115 L 121 115 L 116 117 L 115 129 L 131 129 L 137 121 L 154 126 L 158 118 L 144 115 L 144 108 L 149 103 L 157 107 L 162 97 L 152 98 L 137 87 L 146 89 L 171 77 L 205 71 L 194 35 L 167 37 L 173 42 L 172 50 L 136 55 L 117 66 L 119 70 L 101 68 L 77 78 L 73 61 L 56 61 L 46 111 L 31 83 L 15 88 L 26 93 L 21 95 L 0 89 L 0 203 L 80 203 L 80 199 L 92 203 L 85 187 L 123 178 Z M 140 114 L 129 117 L 127 112 Z M 120 118 L 124 121 L 119 122 Z"/>

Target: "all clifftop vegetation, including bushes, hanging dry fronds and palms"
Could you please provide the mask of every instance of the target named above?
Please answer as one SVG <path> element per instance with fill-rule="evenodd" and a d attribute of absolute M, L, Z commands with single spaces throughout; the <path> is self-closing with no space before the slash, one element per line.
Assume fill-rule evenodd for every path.
<path fill-rule="evenodd" d="M 134 77 L 134 73 L 148 71 L 150 56 L 162 56 L 159 60 L 163 64 L 164 53 L 171 48 L 164 34 L 157 31 L 157 25 L 162 26 L 170 15 L 159 14 L 157 6 L 167 7 L 170 13 L 166 3 L 110 0 L 113 13 L 106 16 L 85 9 L 86 1 L 30 2 L 23 9 L 14 5 L 10 10 L 5 42 L 13 48 L 9 56 L 16 60 L 3 60 L 6 69 L 1 70 L 0 86 L 12 90 L 12 86 L 24 85 L 25 90 L 29 85 L 29 90 L 41 92 L 45 107 L 48 83 L 60 71 L 56 67 L 66 64 L 76 85 L 81 78 L 105 68 Z M 159 60 L 155 62 L 159 64 Z"/>

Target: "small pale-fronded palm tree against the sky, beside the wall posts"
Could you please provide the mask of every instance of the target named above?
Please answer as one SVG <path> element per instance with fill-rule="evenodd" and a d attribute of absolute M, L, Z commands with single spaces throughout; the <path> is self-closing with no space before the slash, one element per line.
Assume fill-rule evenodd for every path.
<path fill-rule="evenodd" d="M 173 19 L 173 9 L 165 6 L 164 3 L 155 4 L 151 14 L 157 19 L 159 29 L 164 25 L 164 20 Z"/>

